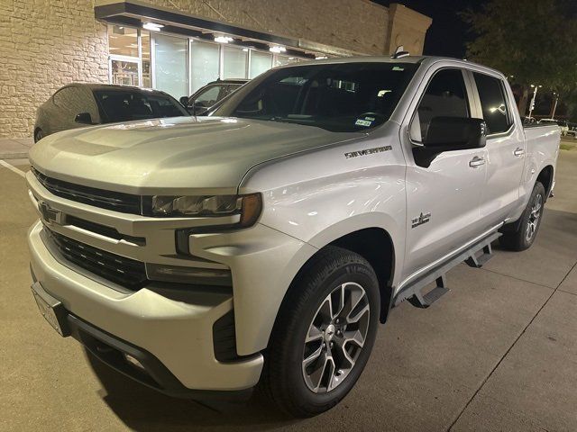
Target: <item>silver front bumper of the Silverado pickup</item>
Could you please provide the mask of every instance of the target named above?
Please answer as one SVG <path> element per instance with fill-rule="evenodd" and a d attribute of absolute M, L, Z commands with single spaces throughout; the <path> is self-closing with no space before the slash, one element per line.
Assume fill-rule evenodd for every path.
<path fill-rule="evenodd" d="M 258 382 L 261 354 L 234 363 L 215 359 L 213 326 L 233 310 L 230 293 L 160 287 L 122 293 L 62 265 L 44 244 L 41 231 L 38 221 L 28 236 L 34 277 L 79 322 L 150 354 L 182 388 L 240 391 Z M 157 388 L 167 386 L 161 381 Z M 159 390 L 171 392 L 179 385 L 169 387 Z"/>

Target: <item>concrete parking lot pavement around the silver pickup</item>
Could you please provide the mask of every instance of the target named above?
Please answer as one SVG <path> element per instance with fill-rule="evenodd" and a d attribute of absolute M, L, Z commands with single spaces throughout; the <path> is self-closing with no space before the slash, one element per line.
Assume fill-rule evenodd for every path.
<path fill-rule="evenodd" d="M 0 430 L 577 430 L 577 150 L 562 150 L 536 244 L 458 266 L 428 310 L 407 302 L 380 328 L 349 396 L 315 419 L 261 401 L 214 410 L 96 365 L 41 318 L 22 171 L 0 165 Z M 20 171 L 20 172 L 19 172 Z M 103 384 L 104 383 L 104 384 Z"/>

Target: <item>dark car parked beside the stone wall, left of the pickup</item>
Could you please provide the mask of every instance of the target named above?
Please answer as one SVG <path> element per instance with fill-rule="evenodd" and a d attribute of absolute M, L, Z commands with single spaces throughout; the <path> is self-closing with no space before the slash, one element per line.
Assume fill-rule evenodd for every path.
<path fill-rule="evenodd" d="M 34 141 L 60 130 L 190 115 L 172 96 L 126 85 L 71 84 L 60 88 L 36 112 Z"/>

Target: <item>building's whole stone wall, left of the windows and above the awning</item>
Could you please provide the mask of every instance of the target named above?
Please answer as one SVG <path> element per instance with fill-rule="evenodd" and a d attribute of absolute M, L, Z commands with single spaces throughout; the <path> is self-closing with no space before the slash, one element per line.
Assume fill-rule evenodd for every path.
<path fill-rule="evenodd" d="M 372 55 L 389 54 L 398 40 L 420 53 L 430 24 L 404 6 L 389 9 L 369 0 L 149 3 Z M 32 137 L 36 108 L 60 86 L 106 83 L 107 49 L 106 26 L 95 20 L 94 0 L 0 0 L 0 138 Z"/>

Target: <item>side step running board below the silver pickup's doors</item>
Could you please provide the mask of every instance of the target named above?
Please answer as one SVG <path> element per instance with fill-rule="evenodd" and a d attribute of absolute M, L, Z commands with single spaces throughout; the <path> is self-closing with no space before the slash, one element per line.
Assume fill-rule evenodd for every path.
<path fill-rule="evenodd" d="M 479 268 L 483 266 L 490 257 L 492 257 L 492 248 L 490 244 L 501 236 L 501 233 L 495 231 L 487 237 L 481 238 L 471 247 L 467 247 L 463 252 L 444 261 L 439 266 L 429 270 L 425 275 L 420 276 L 412 283 L 402 288 L 393 300 L 393 305 L 397 306 L 400 302 L 408 301 L 417 308 L 428 308 L 431 304 L 439 300 L 445 293 L 449 292 L 446 284 L 445 275 L 454 266 L 465 261 L 469 266 Z M 480 253 L 481 252 L 481 253 Z M 427 285 L 435 282 L 436 286 L 423 293 Z"/>

